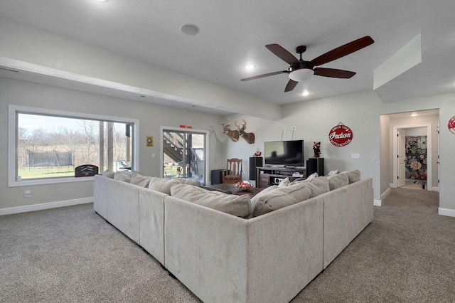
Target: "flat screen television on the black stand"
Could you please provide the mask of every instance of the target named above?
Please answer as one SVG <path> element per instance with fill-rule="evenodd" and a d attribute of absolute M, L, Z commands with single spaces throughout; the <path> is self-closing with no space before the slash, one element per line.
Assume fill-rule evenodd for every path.
<path fill-rule="evenodd" d="M 264 142 L 265 166 L 304 166 L 304 140 Z"/>

